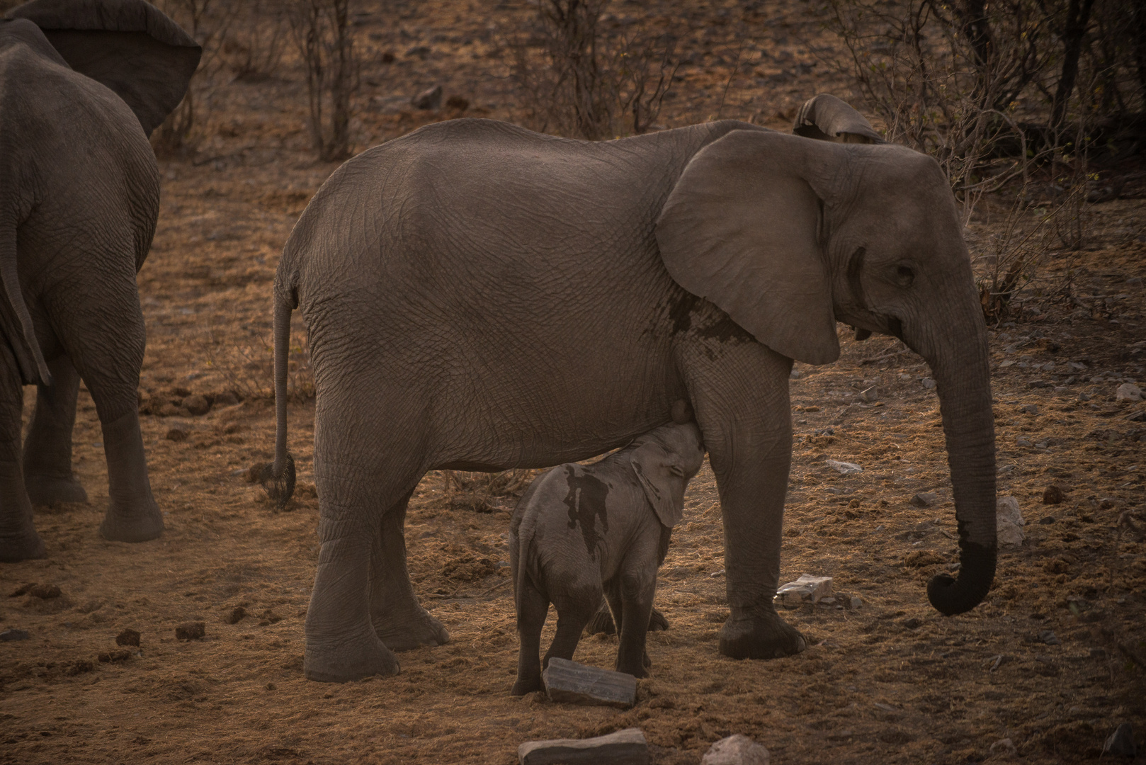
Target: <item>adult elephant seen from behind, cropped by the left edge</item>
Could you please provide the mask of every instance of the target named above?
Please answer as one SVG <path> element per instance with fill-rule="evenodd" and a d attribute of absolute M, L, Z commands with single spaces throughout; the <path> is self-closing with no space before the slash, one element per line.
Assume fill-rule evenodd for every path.
<path fill-rule="evenodd" d="M 0 19 L 0 561 L 44 555 L 33 502 L 86 499 L 71 469 L 80 380 L 108 459 L 101 533 L 163 531 L 139 424 L 135 274 L 159 212 L 148 135 L 199 54 L 142 0 L 34 0 Z M 25 384 L 39 391 L 21 460 Z"/>

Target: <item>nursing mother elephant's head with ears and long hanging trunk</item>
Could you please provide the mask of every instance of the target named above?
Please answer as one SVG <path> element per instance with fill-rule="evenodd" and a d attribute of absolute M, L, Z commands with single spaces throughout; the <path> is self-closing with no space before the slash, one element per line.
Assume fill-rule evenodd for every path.
<path fill-rule="evenodd" d="M 821 140 L 737 130 L 698 151 L 657 224 L 661 257 L 682 287 L 784 356 L 835 360 L 843 321 L 927 360 L 961 549 L 958 580 L 936 577 L 927 593 L 943 614 L 967 611 L 995 576 L 995 427 L 955 200 L 934 159 L 877 145 L 838 99 L 806 104 L 798 128 Z"/>

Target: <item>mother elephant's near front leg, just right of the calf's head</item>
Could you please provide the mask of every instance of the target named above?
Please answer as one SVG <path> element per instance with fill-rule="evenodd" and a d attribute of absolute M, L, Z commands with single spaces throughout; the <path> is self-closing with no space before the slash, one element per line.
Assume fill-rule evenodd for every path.
<path fill-rule="evenodd" d="M 731 615 L 720 651 L 733 658 L 798 654 L 807 642 L 772 604 L 792 463 L 792 361 L 754 342 L 709 343 L 711 357 L 692 357 L 707 364 L 696 362 L 689 388 L 724 521 Z"/>

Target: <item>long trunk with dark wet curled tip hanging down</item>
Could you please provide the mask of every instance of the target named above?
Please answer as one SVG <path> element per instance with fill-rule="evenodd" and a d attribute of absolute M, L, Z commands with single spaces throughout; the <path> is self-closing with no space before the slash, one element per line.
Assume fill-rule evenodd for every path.
<path fill-rule="evenodd" d="M 995 578 L 995 414 L 987 331 L 974 317 L 939 344 L 929 358 L 943 414 L 948 465 L 959 526 L 959 575 L 934 577 L 927 598 L 947 616 L 982 602 Z"/>

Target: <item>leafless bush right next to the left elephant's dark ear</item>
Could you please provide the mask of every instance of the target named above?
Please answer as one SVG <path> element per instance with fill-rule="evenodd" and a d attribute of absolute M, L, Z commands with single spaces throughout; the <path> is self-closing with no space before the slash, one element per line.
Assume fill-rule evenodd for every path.
<path fill-rule="evenodd" d="M 194 148 L 195 131 L 204 123 L 211 95 L 222 84 L 223 62 L 219 56 L 226 45 L 230 22 L 238 3 L 218 0 L 156 0 L 155 5 L 203 46 L 199 67 L 175 110 L 156 128 L 151 145 L 159 155 L 173 155 Z"/>

